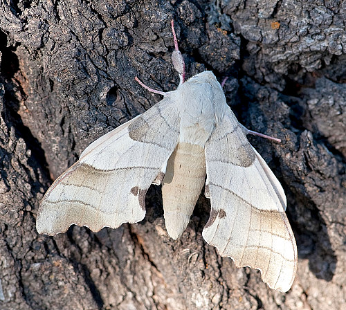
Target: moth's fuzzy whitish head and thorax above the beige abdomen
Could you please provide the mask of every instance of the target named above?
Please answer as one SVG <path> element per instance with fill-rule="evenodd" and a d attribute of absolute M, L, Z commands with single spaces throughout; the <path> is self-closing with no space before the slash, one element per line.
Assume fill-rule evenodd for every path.
<path fill-rule="evenodd" d="M 204 147 L 227 108 L 215 75 L 211 71 L 194 75 L 174 95 L 181 116 L 180 141 Z"/>

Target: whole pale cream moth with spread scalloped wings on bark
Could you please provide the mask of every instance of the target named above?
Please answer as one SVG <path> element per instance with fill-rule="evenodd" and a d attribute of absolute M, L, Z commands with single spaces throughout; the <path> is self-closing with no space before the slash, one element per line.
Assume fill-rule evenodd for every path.
<path fill-rule="evenodd" d="M 260 269 L 282 292 L 297 269 L 297 247 L 280 182 L 248 142 L 211 71 L 185 81 L 172 21 L 174 68 L 180 84 L 145 113 L 95 140 L 44 195 L 38 233 L 71 226 L 93 232 L 145 217 L 145 194 L 162 184 L 165 226 L 173 239 L 188 226 L 205 185 L 210 217 L 203 238 L 237 267 Z"/>

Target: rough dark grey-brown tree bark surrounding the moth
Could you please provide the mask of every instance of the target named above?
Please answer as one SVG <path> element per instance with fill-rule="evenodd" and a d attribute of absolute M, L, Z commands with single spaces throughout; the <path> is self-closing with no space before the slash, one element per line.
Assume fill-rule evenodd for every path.
<path fill-rule="evenodd" d="M 226 97 L 278 176 L 298 243 L 291 291 L 202 239 L 209 202 L 165 233 L 161 189 L 139 224 L 37 235 L 52 179 L 179 78 L 228 75 Z M 345 1 L 0 0 L 0 309 L 346 309 Z"/>

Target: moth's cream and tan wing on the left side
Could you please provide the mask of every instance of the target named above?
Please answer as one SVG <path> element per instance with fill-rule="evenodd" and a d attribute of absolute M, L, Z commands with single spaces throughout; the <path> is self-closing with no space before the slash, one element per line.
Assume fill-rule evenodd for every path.
<path fill-rule="evenodd" d="M 156 176 L 162 179 L 178 139 L 179 113 L 167 96 L 95 140 L 44 195 L 37 231 L 55 235 L 77 224 L 96 232 L 142 220 L 145 193 Z"/>

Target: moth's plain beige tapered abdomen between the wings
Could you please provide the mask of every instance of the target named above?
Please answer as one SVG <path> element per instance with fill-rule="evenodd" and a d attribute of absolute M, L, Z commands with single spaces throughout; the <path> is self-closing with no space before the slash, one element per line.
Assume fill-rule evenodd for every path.
<path fill-rule="evenodd" d="M 205 179 L 203 147 L 180 142 L 168 160 L 162 185 L 165 225 L 173 239 L 179 238 L 188 226 Z"/>

